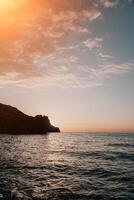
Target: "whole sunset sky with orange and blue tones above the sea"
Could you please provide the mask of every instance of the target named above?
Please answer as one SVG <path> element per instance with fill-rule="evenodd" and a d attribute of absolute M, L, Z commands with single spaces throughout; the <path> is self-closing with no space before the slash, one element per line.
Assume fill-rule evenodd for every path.
<path fill-rule="evenodd" d="M 62 131 L 134 131 L 133 0 L 0 0 L 0 102 Z"/>

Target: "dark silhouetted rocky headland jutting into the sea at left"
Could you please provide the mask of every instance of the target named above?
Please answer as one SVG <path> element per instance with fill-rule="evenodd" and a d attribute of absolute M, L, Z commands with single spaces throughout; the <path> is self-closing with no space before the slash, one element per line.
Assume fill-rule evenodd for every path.
<path fill-rule="evenodd" d="M 47 116 L 35 117 L 24 114 L 17 108 L 0 103 L 0 134 L 45 134 L 60 132 Z"/>

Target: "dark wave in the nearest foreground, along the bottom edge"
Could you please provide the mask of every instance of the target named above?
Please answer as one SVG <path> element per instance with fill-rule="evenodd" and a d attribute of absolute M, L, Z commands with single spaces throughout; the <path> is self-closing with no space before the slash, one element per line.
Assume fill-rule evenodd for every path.
<path fill-rule="evenodd" d="M 85 195 L 82 193 L 72 192 L 67 188 L 53 188 L 42 191 L 40 195 L 34 193 L 33 190 L 27 189 L 26 192 L 13 189 L 1 194 L 6 200 L 112 200 L 104 191 L 92 191 Z"/>

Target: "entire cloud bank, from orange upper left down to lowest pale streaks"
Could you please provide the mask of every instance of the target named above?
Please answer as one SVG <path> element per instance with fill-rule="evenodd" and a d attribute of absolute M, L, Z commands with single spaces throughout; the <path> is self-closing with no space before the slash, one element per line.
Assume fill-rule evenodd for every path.
<path fill-rule="evenodd" d="M 101 52 L 103 38 L 93 37 L 90 27 L 101 19 L 100 5 L 113 8 L 119 1 L 15 2 L 6 14 L 0 12 L 0 86 L 98 87 L 133 68 L 133 62 L 109 62 L 113 57 Z M 103 65 L 80 64 L 82 52 L 95 52 Z"/>

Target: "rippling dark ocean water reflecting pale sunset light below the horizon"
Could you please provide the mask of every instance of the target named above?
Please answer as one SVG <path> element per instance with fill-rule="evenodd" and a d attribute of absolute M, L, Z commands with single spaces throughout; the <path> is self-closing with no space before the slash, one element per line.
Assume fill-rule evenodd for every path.
<path fill-rule="evenodd" d="M 1 135 L 0 199 L 134 200 L 134 134 Z"/>

